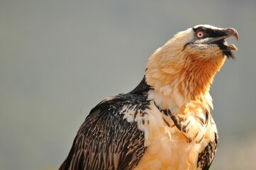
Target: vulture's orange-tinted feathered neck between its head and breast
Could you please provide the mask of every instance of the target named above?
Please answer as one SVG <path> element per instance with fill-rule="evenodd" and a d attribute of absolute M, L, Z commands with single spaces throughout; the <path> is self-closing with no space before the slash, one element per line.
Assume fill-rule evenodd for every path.
<path fill-rule="evenodd" d="M 226 57 L 220 54 L 202 58 L 191 52 L 176 52 L 172 57 L 164 53 L 158 50 L 148 61 L 145 79 L 154 89 L 150 98 L 162 108 L 181 108 L 190 102 L 212 107 L 210 86 Z"/>

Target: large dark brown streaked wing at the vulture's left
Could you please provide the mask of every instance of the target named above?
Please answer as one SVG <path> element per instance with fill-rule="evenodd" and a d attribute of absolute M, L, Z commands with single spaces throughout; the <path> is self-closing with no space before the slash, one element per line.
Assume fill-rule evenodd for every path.
<path fill-rule="evenodd" d="M 137 92 L 137 91 L 136 91 Z M 91 110 L 60 169 L 133 169 L 145 152 L 144 134 L 123 119 L 126 106 L 138 113 L 148 108 L 141 94 L 119 94 Z"/>

